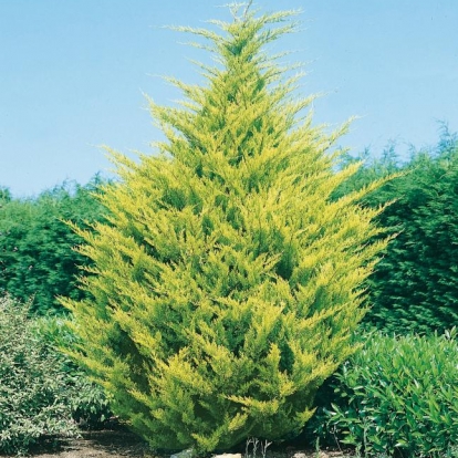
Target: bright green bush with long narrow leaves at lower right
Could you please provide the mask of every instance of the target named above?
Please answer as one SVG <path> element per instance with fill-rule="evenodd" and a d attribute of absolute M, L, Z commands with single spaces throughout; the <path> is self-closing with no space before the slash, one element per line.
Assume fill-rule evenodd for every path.
<path fill-rule="evenodd" d="M 456 449 L 456 337 L 455 329 L 440 336 L 366 336 L 363 350 L 327 384 L 327 403 L 333 403 L 319 409 L 314 433 L 368 456 L 435 456 Z"/>

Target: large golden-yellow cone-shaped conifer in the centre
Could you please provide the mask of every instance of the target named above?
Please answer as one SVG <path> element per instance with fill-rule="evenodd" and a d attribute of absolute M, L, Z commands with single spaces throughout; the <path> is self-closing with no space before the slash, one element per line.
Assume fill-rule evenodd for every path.
<path fill-rule="evenodd" d="M 292 12 L 232 9 L 204 37 L 208 84 L 176 84 L 179 108 L 152 112 L 166 135 L 140 163 L 113 153 L 121 180 L 102 199 L 110 223 L 80 231 L 94 261 L 63 300 L 74 355 L 114 410 L 155 447 L 214 450 L 299 431 L 318 387 L 348 354 L 362 281 L 384 241 L 379 210 L 333 200 L 326 135 L 301 118 L 294 80 L 263 46 Z M 379 239 L 379 238 L 378 238 Z"/>

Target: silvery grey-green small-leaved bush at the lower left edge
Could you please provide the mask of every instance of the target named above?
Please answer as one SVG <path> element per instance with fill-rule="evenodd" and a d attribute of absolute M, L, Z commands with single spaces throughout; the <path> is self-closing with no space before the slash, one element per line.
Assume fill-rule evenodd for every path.
<path fill-rule="evenodd" d="M 35 333 L 28 310 L 0 298 L 0 451 L 48 435 L 74 435 L 62 362 Z"/>

